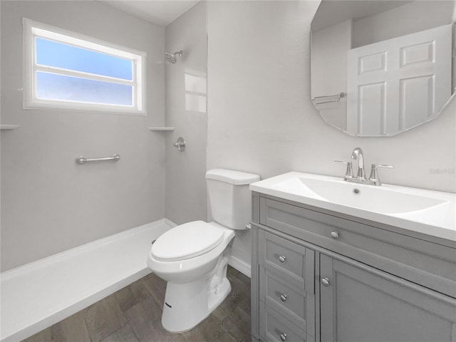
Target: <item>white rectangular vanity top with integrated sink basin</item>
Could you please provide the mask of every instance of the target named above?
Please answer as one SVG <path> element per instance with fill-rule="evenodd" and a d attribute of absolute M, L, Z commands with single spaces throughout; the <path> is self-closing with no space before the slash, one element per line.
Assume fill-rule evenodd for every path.
<path fill-rule="evenodd" d="M 456 194 L 288 172 L 250 185 L 266 195 L 456 241 Z"/>

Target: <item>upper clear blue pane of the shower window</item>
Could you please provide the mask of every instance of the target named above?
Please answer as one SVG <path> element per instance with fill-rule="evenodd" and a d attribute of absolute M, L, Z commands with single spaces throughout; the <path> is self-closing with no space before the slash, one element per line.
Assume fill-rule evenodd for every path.
<path fill-rule="evenodd" d="M 36 63 L 131 81 L 133 62 L 105 53 L 36 38 Z"/>

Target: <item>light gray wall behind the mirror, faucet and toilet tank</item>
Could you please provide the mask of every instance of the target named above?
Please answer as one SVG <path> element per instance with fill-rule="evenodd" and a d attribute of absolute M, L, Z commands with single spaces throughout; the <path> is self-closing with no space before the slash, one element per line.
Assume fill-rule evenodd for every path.
<path fill-rule="evenodd" d="M 391 138 L 355 138 L 323 122 L 310 96 L 309 32 L 318 1 L 209 1 L 207 168 L 262 178 L 291 170 L 343 177 L 354 147 L 385 183 L 456 192 L 456 100 Z M 250 237 L 234 255 L 250 262 Z"/>

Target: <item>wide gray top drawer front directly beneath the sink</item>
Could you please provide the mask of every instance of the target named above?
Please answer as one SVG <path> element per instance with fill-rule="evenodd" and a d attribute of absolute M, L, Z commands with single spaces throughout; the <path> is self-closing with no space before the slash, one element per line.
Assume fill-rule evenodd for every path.
<path fill-rule="evenodd" d="M 456 298 L 456 249 L 260 197 L 260 224 Z"/>

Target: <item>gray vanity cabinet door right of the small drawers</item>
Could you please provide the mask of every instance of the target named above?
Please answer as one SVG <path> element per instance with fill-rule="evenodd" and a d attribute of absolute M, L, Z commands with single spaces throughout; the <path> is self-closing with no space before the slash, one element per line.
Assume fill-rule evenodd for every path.
<path fill-rule="evenodd" d="M 455 342 L 456 301 L 361 263 L 320 259 L 321 342 Z"/>

